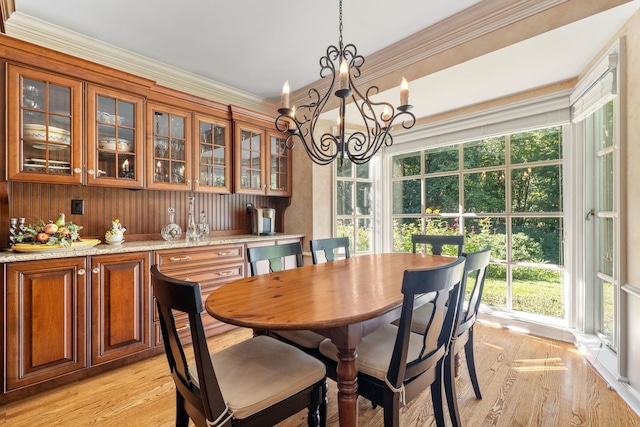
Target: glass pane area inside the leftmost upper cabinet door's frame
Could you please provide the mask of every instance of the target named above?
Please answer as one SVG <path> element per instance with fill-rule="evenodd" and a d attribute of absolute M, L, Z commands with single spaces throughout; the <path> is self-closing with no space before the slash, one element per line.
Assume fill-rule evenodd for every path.
<path fill-rule="evenodd" d="M 72 175 L 71 88 L 22 78 L 21 171 Z"/>

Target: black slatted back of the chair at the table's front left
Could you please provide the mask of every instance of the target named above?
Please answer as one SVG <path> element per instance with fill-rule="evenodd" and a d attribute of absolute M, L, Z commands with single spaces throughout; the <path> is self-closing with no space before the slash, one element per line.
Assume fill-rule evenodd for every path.
<path fill-rule="evenodd" d="M 189 413 L 194 421 L 200 419 L 204 422 L 202 414 L 207 419 L 214 420 L 225 411 L 226 406 L 211 363 L 202 325 L 200 313 L 204 307 L 200 284 L 168 277 L 160 273 L 156 265 L 151 266 L 151 281 L 164 348 L 176 389 L 196 409 L 197 412 Z M 189 365 L 176 328 L 174 311 L 185 313 L 189 317 L 199 387 L 194 385 L 189 375 Z"/>

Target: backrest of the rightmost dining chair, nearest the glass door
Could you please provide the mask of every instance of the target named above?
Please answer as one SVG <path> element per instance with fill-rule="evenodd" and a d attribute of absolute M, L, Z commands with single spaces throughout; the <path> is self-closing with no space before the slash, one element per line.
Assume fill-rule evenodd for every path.
<path fill-rule="evenodd" d="M 460 319 L 458 334 L 468 330 L 478 316 L 478 309 L 482 300 L 484 289 L 484 279 L 487 275 L 489 260 L 491 259 L 491 248 L 485 248 L 477 252 L 464 252 L 462 254 L 467 259 L 465 264 L 465 287 L 471 289 L 467 311 Z M 470 286 L 472 285 L 472 287 Z"/>

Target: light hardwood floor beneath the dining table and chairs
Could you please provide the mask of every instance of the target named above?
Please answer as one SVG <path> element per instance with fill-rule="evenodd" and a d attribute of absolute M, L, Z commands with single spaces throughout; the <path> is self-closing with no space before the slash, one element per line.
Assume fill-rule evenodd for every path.
<path fill-rule="evenodd" d="M 212 351 L 247 339 L 237 329 L 211 338 Z M 476 326 L 482 400 L 464 365 L 457 380 L 465 426 L 639 426 L 640 418 L 571 344 Z M 338 425 L 329 382 L 329 426 Z M 175 390 L 164 355 L 0 407 L 0 426 L 173 426 Z M 403 408 L 403 426 L 435 425 L 429 391 Z M 382 409 L 360 399 L 361 426 L 382 426 Z M 279 427 L 306 425 L 303 412 Z"/>

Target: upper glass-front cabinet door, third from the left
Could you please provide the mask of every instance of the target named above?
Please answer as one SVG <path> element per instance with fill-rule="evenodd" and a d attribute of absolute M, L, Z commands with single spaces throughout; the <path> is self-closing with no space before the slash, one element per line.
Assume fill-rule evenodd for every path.
<path fill-rule="evenodd" d="M 147 103 L 147 187 L 191 190 L 191 113 Z"/>

